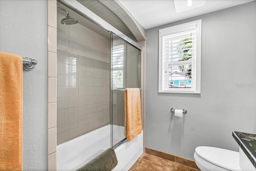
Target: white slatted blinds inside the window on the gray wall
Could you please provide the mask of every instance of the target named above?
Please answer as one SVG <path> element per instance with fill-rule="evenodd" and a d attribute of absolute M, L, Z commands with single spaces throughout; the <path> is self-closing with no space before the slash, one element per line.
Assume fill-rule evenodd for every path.
<path fill-rule="evenodd" d="M 194 88 L 195 30 L 163 36 L 163 89 Z M 173 82 L 170 85 L 170 82 Z M 183 84 L 179 84 L 182 82 Z"/>

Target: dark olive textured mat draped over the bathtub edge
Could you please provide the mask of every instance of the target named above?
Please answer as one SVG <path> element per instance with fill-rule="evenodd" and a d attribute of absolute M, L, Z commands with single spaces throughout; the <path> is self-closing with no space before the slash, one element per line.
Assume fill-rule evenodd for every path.
<path fill-rule="evenodd" d="M 111 171 L 116 167 L 117 163 L 114 149 L 109 148 L 76 171 Z"/>

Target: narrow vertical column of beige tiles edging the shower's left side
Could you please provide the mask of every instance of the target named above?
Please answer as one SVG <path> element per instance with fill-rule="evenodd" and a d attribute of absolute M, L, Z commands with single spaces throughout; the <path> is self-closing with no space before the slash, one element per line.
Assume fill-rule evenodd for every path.
<path fill-rule="evenodd" d="M 56 171 L 57 143 L 57 11 L 56 0 L 47 1 L 47 170 Z"/>

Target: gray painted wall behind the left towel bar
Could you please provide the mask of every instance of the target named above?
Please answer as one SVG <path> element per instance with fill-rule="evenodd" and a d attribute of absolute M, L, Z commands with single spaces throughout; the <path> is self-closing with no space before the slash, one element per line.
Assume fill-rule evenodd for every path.
<path fill-rule="evenodd" d="M 47 170 L 47 1 L 0 0 L 0 51 L 34 58 L 23 71 L 23 170 Z"/>

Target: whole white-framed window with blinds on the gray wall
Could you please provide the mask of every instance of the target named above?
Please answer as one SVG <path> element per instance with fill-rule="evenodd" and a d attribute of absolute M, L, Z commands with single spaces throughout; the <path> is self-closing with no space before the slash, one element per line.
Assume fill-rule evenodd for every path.
<path fill-rule="evenodd" d="M 196 20 L 159 30 L 159 93 L 200 93 L 201 28 Z"/>

